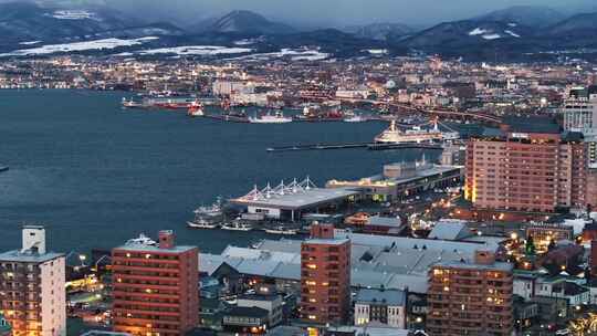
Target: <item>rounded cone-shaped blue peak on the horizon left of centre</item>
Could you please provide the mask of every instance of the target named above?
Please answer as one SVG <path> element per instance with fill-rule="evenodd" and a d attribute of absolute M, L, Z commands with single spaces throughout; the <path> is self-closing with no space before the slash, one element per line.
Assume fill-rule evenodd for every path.
<path fill-rule="evenodd" d="M 221 18 L 208 19 L 189 29 L 193 33 L 219 32 L 240 34 L 289 34 L 296 30 L 245 10 L 232 11 Z"/>

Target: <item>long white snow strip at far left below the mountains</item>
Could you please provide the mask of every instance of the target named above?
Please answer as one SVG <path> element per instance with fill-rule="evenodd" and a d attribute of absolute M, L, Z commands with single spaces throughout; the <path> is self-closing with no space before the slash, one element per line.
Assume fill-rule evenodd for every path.
<path fill-rule="evenodd" d="M 33 49 L 21 49 L 15 50 L 10 53 L 0 54 L 0 57 L 6 56 L 29 56 L 29 55 L 48 55 L 53 53 L 67 53 L 75 51 L 87 51 L 87 50 L 104 50 L 104 49 L 116 49 L 119 46 L 132 46 L 139 45 L 148 41 L 157 40 L 156 36 L 147 36 L 133 40 L 122 40 L 122 39 L 103 39 L 85 42 L 73 42 L 64 44 L 48 44 Z"/>

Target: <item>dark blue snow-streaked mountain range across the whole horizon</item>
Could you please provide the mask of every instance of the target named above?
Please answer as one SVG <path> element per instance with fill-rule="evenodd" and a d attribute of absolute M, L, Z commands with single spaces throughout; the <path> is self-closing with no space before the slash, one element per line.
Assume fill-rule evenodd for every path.
<path fill-rule="evenodd" d="M 245 10 L 179 28 L 97 6 L 73 9 L 18 1 L 0 3 L 0 35 L 1 52 L 24 49 L 36 41 L 46 44 L 157 36 L 159 40 L 129 49 L 197 43 L 231 46 L 245 40 L 259 52 L 310 46 L 337 57 L 362 56 L 364 51 L 375 49 L 390 55 L 416 50 L 469 59 L 496 54 L 516 59 L 563 49 L 597 49 L 597 13 L 566 17 L 544 7 L 512 7 L 425 30 L 386 22 L 302 31 Z"/>

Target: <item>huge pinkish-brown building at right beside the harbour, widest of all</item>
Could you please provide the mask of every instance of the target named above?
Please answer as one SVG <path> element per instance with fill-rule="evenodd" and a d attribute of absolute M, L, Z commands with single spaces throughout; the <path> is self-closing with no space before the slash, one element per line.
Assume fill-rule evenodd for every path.
<path fill-rule="evenodd" d="M 465 198 L 478 209 L 554 212 L 586 206 L 586 144 L 544 119 L 511 120 L 471 138 Z"/>

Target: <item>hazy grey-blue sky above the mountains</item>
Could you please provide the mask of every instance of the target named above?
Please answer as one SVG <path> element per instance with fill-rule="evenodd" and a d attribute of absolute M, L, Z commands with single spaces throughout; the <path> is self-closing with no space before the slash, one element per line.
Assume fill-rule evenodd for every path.
<path fill-rule="evenodd" d="M 374 22 L 434 24 L 468 19 L 511 6 L 547 6 L 562 11 L 597 10 L 595 0 L 38 0 L 104 2 L 149 20 L 180 19 L 186 23 L 251 10 L 291 24 L 339 27 Z"/>

